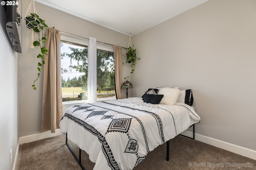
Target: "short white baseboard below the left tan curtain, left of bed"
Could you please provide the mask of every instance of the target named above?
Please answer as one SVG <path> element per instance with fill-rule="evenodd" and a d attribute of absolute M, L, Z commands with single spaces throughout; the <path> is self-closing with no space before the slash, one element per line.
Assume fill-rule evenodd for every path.
<path fill-rule="evenodd" d="M 57 135 L 60 135 L 60 129 L 56 129 L 55 133 L 51 133 L 51 131 L 46 131 L 46 132 L 42 132 L 42 133 L 36 133 L 33 135 L 28 135 L 28 136 L 24 136 L 24 137 L 20 137 L 19 141 L 19 145 L 23 144 L 23 143 L 29 143 L 29 142 L 33 142 L 33 141 L 38 141 L 41 139 L 46 139 L 49 137 L 54 137 Z"/>

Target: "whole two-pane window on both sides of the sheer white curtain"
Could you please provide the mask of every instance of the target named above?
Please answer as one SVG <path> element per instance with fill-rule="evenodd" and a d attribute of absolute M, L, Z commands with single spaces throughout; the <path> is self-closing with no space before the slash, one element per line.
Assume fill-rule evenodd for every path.
<path fill-rule="evenodd" d="M 62 38 L 62 102 L 88 99 L 88 45 Z M 97 100 L 115 98 L 113 47 L 97 45 Z"/>

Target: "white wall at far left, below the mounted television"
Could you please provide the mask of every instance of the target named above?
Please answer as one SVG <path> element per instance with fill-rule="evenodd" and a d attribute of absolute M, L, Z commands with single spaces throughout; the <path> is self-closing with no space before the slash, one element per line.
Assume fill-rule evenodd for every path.
<path fill-rule="evenodd" d="M 10 149 L 14 158 L 18 147 L 18 53 L 6 33 L 6 14 L 0 6 L 0 169 L 10 170 Z"/>

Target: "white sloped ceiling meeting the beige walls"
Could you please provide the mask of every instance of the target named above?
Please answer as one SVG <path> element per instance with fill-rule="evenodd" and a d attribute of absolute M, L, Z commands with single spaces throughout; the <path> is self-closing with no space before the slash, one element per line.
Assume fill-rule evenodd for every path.
<path fill-rule="evenodd" d="M 119 33 L 136 35 L 208 0 L 34 0 Z"/>

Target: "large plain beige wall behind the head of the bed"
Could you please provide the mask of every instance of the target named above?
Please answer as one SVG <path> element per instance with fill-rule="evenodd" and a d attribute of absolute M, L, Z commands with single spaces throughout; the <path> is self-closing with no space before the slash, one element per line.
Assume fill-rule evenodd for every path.
<path fill-rule="evenodd" d="M 256 1 L 209 0 L 132 37 L 133 96 L 192 89 L 196 133 L 256 150 Z"/>

